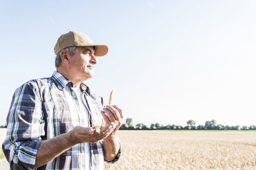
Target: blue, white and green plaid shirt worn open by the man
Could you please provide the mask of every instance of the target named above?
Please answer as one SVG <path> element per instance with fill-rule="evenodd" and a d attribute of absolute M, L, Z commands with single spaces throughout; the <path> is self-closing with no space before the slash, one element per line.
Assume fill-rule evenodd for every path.
<path fill-rule="evenodd" d="M 36 153 L 41 141 L 69 132 L 76 125 L 101 124 L 103 99 L 90 93 L 81 84 L 83 103 L 89 112 L 80 112 L 72 82 L 54 71 L 52 77 L 26 82 L 14 93 L 8 112 L 8 132 L 3 152 L 11 169 L 34 169 Z M 121 147 L 120 147 L 121 148 Z M 91 169 L 104 169 L 103 141 L 90 143 Z M 114 163 L 120 157 L 118 151 Z M 85 169 L 85 143 L 74 145 L 60 156 L 38 169 Z"/>

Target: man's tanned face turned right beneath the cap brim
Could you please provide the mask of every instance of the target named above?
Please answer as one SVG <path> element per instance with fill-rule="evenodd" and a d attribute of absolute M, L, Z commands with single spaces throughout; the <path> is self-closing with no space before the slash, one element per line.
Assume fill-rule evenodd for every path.
<path fill-rule="evenodd" d="M 93 47 L 76 47 L 74 56 L 69 58 L 70 71 L 76 78 L 85 81 L 94 76 L 94 66 L 97 63 Z"/>

